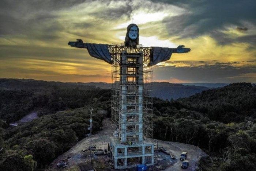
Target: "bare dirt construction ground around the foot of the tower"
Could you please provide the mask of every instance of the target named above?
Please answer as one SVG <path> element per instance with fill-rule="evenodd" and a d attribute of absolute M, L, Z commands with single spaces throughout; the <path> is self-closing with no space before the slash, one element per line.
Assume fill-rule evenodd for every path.
<path fill-rule="evenodd" d="M 92 135 L 92 145 L 100 149 L 107 149 L 109 138 L 111 136 L 111 121 L 110 118 L 105 118 L 103 120 L 103 129 L 97 134 Z M 197 161 L 200 157 L 206 156 L 206 153 L 202 149 L 190 145 L 182 144 L 171 141 L 162 141 L 151 139 L 152 142 L 158 143 L 158 147 L 166 148 L 167 152 L 172 152 L 176 159 L 172 159 L 170 155 L 166 155 L 164 152 L 158 151 L 155 153 L 157 155 L 157 162 L 153 167 L 149 167 L 148 170 L 166 170 L 166 171 L 179 171 L 183 170 L 181 168 L 182 161 L 179 159 L 182 152 L 188 153 L 189 167 L 187 170 L 194 171 L 197 168 Z M 63 155 L 60 155 L 55 159 L 48 168 L 48 171 L 59 170 L 59 171 L 83 171 L 83 168 L 90 166 L 91 158 L 90 154 L 95 151 L 87 150 L 83 152 L 90 146 L 90 137 L 86 137 L 83 140 L 75 144 L 71 149 L 65 152 Z M 67 163 L 66 168 L 58 168 L 57 163 Z M 113 164 L 111 158 L 108 155 L 100 155 L 92 157 L 93 167 L 97 171 L 101 170 L 113 170 Z M 129 169 L 136 170 L 136 168 Z"/>

